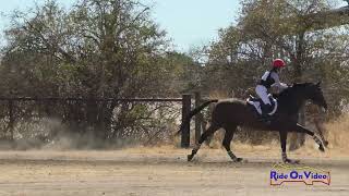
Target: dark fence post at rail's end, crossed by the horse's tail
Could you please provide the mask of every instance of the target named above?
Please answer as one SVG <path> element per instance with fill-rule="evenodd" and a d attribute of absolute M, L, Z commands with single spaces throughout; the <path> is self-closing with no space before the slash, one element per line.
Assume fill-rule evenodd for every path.
<path fill-rule="evenodd" d="M 182 96 L 182 123 L 191 111 L 191 95 Z M 182 130 L 181 147 L 188 148 L 190 146 L 190 122 Z"/>

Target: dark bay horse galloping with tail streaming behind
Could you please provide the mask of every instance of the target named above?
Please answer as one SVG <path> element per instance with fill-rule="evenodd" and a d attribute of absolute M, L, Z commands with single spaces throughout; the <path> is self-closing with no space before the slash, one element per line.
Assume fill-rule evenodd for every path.
<path fill-rule="evenodd" d="M 287 158 L 286 140 L 288 132 L 305 133 L 313 137 L 315 143 L 320 146 L 318 149 L 324 151 L 324 146 L 321 139 L 308 128 L 298 124 L 298 113 L 306 100 L 327 109 L 326 100 L 323 96 L 320 83 L 301 83 L 293 84 L 285 89 L 279 95 L 275 96 L 278 102 L 278 109 L 273 115 L 273 121 L 269 124 L 258 121 L 258 114 L 255 109 L 248 105 L 244 100 L 226 99 L 226 100 L 209 100 L 202 106 L 195 108 L 181 125 L 182 127 L 190 122 L 190 119 L 206 108 L 209 103 L 217 102 L 213 112 L 209 127 L 201 135 L 198 144 L 193 148 L 192 154 L 188 156 L 188 161 L 191 161 L 203 142 L 214 134 L 218 128 L 225 128 L 225 137 L 222 146 L 226 148 L 228 155 L 234 162 L 242 159 L 238 158 L 230 150 L 230 143 L 238 126 L 249 126 L 262 131 L 276 131 L 280 135 L 280 144 L 282 149 L 282 161 L 289 163 L 297 163 Z M 179 132 L 181 132 L 181 130 Z"/>

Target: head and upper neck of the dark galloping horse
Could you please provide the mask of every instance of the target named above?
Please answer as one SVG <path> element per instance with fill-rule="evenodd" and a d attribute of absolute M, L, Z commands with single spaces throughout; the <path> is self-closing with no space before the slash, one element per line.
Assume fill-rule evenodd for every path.
<path fill-rule="evenodd" d="M 293 84 L 292 87 L 300 90 L 301 94 L 304 95 L 305 99 L 310 99 L 313 103 L 327 110 L 327 102 L 324 98 L 323 90 L 321 89 L 321 82 L 316 84 L 313 84 L 313 83 Z"/>

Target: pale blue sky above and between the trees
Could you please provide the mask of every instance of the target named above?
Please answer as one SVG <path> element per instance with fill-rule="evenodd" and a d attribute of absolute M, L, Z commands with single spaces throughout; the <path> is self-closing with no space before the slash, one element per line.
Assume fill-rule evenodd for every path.
<path fill-rule="evenodd" d="M 65 8 L 75 0 L 57 0 Z M 0 0 L 0 32 L 9 24 L 3 14 L 12 10 L 26 10 L 34 2 L 45 0 Z M 188 51 L 218 37 L 218 29 L 228 27 L 238 16 L 239 0 L 143 0 L 151 5 L 152 17 L 168 33 L 174 49 Z M 3 36 L 0 36 L 3 42 Z"/>

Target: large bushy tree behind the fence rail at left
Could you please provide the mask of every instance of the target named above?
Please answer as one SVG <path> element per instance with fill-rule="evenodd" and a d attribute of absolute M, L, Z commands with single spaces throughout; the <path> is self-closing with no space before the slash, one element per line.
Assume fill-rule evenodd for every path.
<path fill-rule="evenodd" d="M 5 33 L 2 96 L 88 98 L 63 111 L 47 109 L 72 130 L 92 131 L 101 140 L 122 135 L 148 108 L 93 99 L 178 95 L 168 79 L 190 62 L 166 53 L 166 33 L 135 0 L 82 0 L 70 11 L 49 0 L 31 12 L 14 12 Z M 181 60 L 167 64 L 176 56 Z"/>

